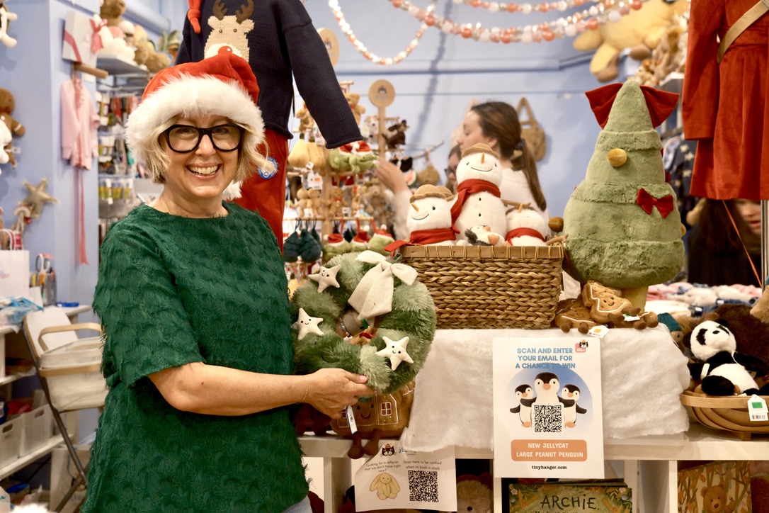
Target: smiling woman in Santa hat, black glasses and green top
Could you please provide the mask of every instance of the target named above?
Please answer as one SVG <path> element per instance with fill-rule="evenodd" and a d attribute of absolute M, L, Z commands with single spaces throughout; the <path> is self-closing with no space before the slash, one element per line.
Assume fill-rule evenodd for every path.
<path fill-rule="evenodd" d="M 165 185 L 108 233 L 94 297 L 110 388 L 82 511 L 310 511 L 288 405 L 333 418 L 374 391 L 341 369 L 291 375 L 278 242 L 222 201 L 265 158 L 248 63 L 162 70 L 128 145 Z"/>

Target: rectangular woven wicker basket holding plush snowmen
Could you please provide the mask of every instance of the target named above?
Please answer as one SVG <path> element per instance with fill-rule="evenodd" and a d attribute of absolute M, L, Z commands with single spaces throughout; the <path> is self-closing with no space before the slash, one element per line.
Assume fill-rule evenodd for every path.
<path fill-rule="evenodd" d="M 564 248 L 403 246 L 438 309 L 438 328 L 550 328 Z"/>

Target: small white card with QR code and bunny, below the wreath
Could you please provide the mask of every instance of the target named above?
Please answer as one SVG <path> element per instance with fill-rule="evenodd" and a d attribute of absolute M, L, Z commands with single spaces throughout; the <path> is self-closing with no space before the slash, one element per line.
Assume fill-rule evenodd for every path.
<path fill-rule="evenodd" d="M 355 508 L 457 510 L 454 447 L 407 451 L 398 440 L 381 441 L 378 453 L 355 472 Z"/>

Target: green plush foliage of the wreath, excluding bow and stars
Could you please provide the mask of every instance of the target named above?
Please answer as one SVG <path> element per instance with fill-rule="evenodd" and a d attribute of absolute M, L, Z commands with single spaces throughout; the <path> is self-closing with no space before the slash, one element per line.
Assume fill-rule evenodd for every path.
<path fill-rule="evenodd" d="M 435 306 L 428 289 L 419 281 L 406 285 L 394 278 L 392 311 L 382 315 L 378 330 L 369 345 L 352 345 L 335 332 L 338 318 L 348 308 L 347 301 L 361 278 L 374 265 L 357 261 L 358 253 L 332 258 L 325 265 L 341 265 L 336 275 L 339 288 L 326 287 L 318 292 L 318 283 L 312 280 L 300 285 L 291 297 L 291 314 L 298 318 L 299 308 L 311 317 L 323 319 L 318 325 L 323 335 L 308 333 L 298 341 L 298 330 L 293 328 L 295 366 L 299 374 L 308 374 L 320 368 L 344 368 L 368 377 L 368 385 L 383 393 L 398 390 L 414 379 L 424 365 L 435 335 Z M 401 361 L 395 371 L 390 360 L 376 355 L 385 347 L 382 337 L 400 340 L 408 336 L 406 350 L 414 363 Z"/>

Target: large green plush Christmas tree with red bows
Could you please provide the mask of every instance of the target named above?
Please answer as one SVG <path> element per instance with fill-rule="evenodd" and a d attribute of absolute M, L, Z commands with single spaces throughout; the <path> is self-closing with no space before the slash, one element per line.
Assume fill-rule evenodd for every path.
<path fill-rule="evenodd" d="M 654 130 L 678 95 L 633 80 L 586 94 L 603 130 L 564 209 L 567 270 L 583 283 L 620 288 L 643 308 L 648 285 L 674 278 L 684 261 L 681 216 Z"/>

